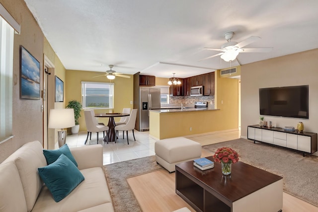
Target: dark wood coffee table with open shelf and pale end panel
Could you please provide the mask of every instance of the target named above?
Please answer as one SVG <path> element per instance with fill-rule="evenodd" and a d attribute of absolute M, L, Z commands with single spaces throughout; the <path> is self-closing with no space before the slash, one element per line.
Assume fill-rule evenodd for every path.
<path fill-rule="evenodd" d="M 205 171 L 193 161 L 179 163 L 175 192 L 198 212 L 281 212 L 283 207 L 283 178 L 242 162 L 232 164 L 230 175 L 222 174 L 220 163 Z"/>

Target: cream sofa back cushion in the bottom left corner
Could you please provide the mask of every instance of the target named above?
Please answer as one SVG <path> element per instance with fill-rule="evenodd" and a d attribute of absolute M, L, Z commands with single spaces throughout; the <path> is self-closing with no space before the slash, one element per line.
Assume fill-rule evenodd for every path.
<path fill-rule="evenodd" d="M 22 183 L 13 162 L 0 165 L 0 212 L 26 212 Z"/>

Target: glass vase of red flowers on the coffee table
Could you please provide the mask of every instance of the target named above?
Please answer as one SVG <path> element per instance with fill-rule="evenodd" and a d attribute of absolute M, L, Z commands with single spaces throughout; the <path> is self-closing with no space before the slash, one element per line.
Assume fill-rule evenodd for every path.
<path fill-rule="evenodd" d="M 230 147 L 221 147 L 217 149 L 213 159 L 222 164 L 222 173 L 228 175 L 231 174 L 231 164 L 239 161 L 239 154 Z"/>

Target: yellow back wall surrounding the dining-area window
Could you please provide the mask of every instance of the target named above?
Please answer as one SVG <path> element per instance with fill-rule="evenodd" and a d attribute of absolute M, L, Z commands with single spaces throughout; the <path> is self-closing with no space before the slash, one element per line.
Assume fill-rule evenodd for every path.
<path fill-rule="evenodd" d="M 81 81 L 90 82 L 113 82 L 114 83 L 114 112 L 122 112 L 123 108 L 133 109 L 133 75 L 130 78 L 124 78 L 116 76 L 114 80 L 109 80 L 105 76 L 93 77 L 100 75 L 100 72 L 93 71 L 77 71 L 67 70 L 66 71 L 66 85 L 65 85 L 65 104 L 67 105 L 71 100 L 81 100 Z M 126 74 L 127 75 L 127 74 Z M 129 75 L 129 74 L 128 74 Z M 95 113 L 108 113 L 108 110 L 95 110 Z M 115 118 L 118 121 L 120 118 Z M 103 122 L 105 125 L 108 123 L 108 118 L 100 118 L 98 122 Z M 79 131 L 86 131 L 85 118 L 83 111 L 79 118 Z"/>

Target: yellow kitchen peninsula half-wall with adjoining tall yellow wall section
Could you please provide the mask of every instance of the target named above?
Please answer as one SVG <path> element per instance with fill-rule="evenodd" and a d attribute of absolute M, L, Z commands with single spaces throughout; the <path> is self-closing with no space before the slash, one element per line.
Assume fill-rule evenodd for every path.
<path fill-rule="evenodd" d="M 216 71 L 215 81 L 218 110 L 168 113 L 151 111 L 150 135 L 166 139 L 238 129 L 239 79 L 221 78 L 220 71 Z"/>

